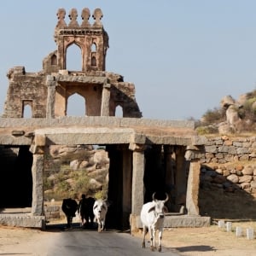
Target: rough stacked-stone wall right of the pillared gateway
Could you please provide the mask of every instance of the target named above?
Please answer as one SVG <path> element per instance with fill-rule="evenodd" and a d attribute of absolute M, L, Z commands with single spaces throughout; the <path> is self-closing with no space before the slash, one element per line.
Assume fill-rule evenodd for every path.
<path fill-rule="evenodd" d="M 256 137 L 211 137 L 205 149 L 201 186 L 243 189 L 256 197 Z"/>

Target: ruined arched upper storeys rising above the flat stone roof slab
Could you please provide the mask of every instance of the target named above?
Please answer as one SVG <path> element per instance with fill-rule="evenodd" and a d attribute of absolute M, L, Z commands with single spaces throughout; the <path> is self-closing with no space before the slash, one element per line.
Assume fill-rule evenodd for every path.
<path fill-rule="evenodd" d="M 67 116 L 69 107 L 73 107 L 69 99 L 77 95 L 83 104 L 79 105 L 81 115 L 116 116 L 119 108 L 121 117 L 141 118 L 135 85 L 105 70 L 108 33 L 102 26 L 102 10 L 94 10 L 93 24 L 89 21 L 88 8 L 81 11 L 80 25 L 77 9 L 70 10 L 68 24 L 65 16 L 65 9 L 57 10 L 54 34 L 57 49 L 44 58 L 41 72 L 26 73 L 25 67 L 9 70 L 3 117 L 54 119 Z M 67 68 L 67 51 L 73 46 L 80 50 L 79 70 Z M 31 114 L 25 115 L 25 109 Z"/>

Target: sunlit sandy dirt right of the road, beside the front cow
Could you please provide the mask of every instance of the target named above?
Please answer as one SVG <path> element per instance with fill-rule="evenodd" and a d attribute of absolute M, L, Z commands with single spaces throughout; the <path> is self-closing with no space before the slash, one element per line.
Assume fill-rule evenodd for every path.
<path fill-rule="evenodd" d="M 249 240 L 246 234 L 247 228 L 256 230 L 256 222 L 231 223 L 231 231 L 227 231 L 226 227 L 219 228 L 218 223 L 210 227 L 166 229 L 162 243 L 164 247 L 171 247 L 184 256 L 256 255 L 256 239 Z M 241 228 L 241 236 L 236 236 L 236 227 Z M 137 236 L 142 237 L 142 234 Z"/>

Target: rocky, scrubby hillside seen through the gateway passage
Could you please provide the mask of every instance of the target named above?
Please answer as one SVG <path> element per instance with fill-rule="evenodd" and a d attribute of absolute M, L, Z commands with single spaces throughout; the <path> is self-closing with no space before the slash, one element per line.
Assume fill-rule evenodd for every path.
<path fill-rule="evenodd" d="M 92 146 L 51 146 L 45 161 L 44 198 L 79 199 L 81 194 L 105 197 L 108 190 L 108 153 Z"/>

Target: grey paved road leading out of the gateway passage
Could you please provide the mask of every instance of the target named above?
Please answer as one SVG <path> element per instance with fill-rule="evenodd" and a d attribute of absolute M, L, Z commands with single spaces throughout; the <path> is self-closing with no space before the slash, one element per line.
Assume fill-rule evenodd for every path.
<path fill-rule="evenodd" d="M 151 252 L 149 242 L 146 248 L 142 247 L 140 238 L 122 233 L 116 230 L 103 231 L 96 230 L 61 230 L 55 241 L 49 244 L 48 256 L 149 256 L 159 252 Z M 163 255 L 178 256 L 175 249 L 162 247 Z"/>

